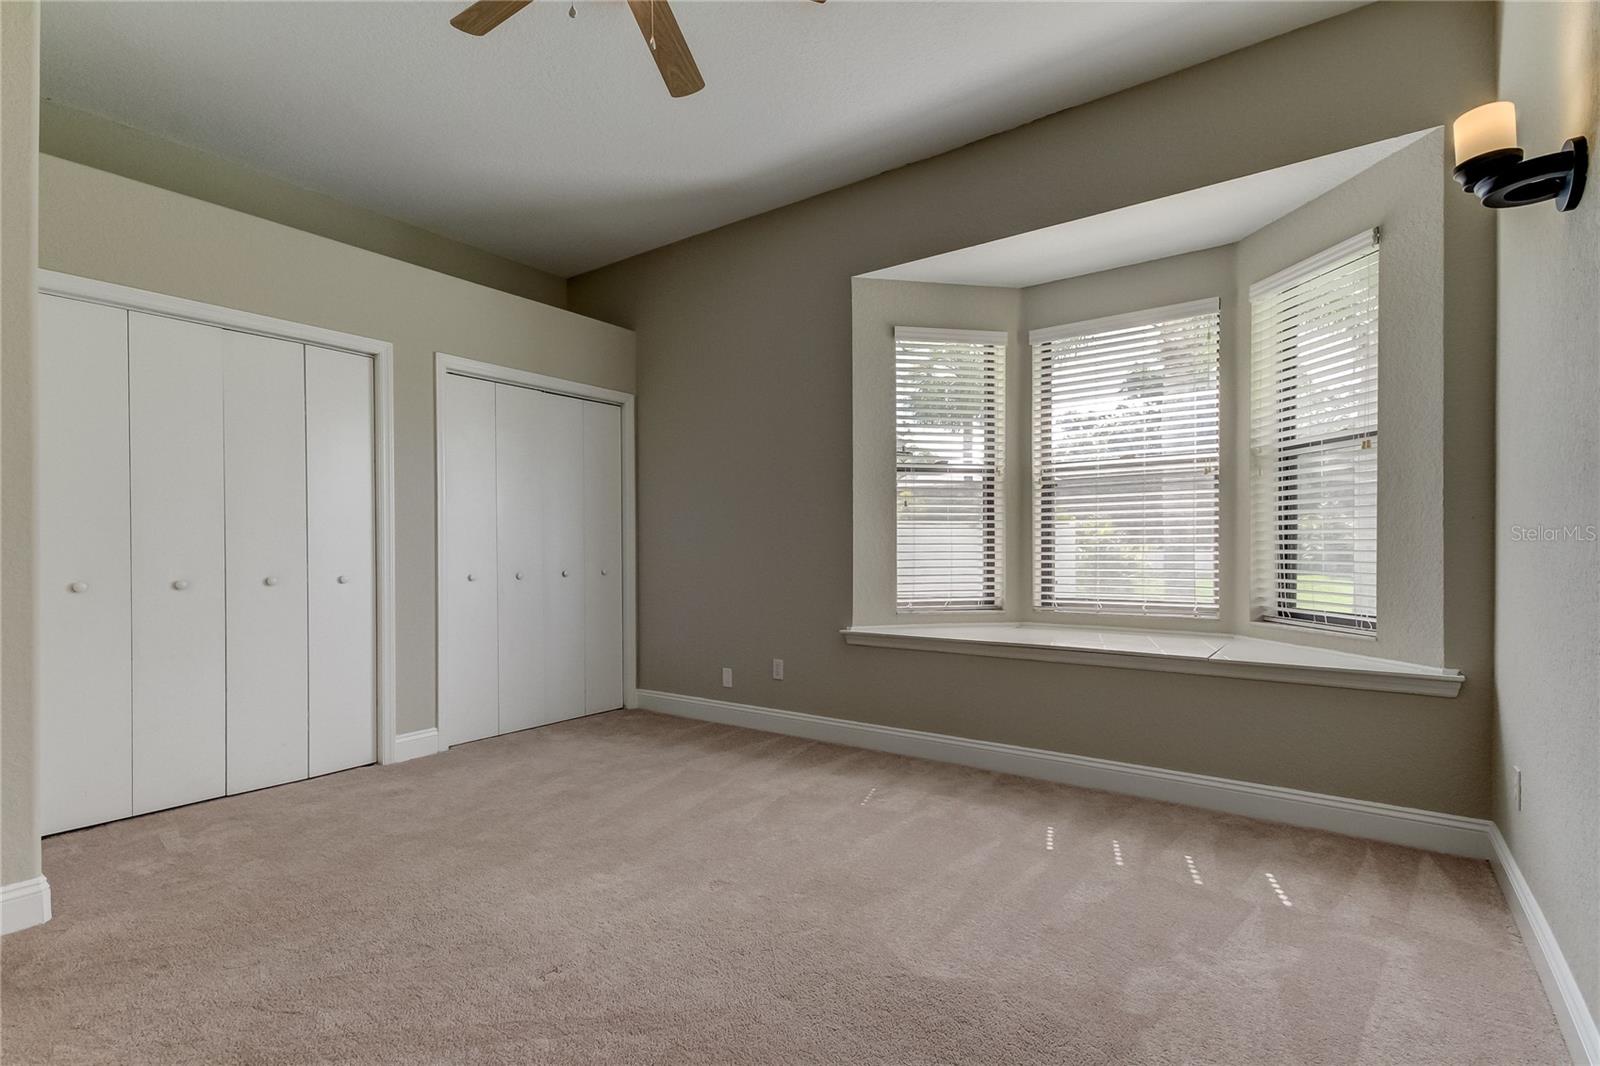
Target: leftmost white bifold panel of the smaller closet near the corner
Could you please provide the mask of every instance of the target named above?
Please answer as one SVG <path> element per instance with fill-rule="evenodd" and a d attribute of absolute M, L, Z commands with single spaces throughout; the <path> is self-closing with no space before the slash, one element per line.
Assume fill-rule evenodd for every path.
<path fill-rule="evenodd" d="M 494 384 L 446 375 L 445 599 L 440 723 L 446 744 L 499 731 L 499 626 L 494 547 Z"/>

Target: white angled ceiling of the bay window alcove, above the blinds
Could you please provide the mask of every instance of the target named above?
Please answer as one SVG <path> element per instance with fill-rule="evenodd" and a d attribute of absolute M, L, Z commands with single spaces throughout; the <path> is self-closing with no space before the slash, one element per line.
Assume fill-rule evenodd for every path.
<path fill-rule="evenodd" d="M 862 277 L 1026 288 L 1232 245 L 1427 134 L 1422 130 L 1318 155 Z"/>

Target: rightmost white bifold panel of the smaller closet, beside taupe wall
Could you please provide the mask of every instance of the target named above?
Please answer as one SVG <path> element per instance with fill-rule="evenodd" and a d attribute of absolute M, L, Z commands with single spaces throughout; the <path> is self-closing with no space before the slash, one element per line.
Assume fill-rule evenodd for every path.
<path fill-rule="evenodd" d="M 622 706 L 622 408 L 584 403 L 584 709 Z"/>

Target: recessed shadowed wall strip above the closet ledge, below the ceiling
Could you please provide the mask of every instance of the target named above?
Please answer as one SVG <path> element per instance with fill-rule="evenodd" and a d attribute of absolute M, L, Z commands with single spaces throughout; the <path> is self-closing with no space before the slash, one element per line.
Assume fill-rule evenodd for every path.
<path fill-rule="evenodd" d="M 40 102 L 38 122 L 38 147 L 46 155 L 283 222 L 502 293 L 566 306 L 566 282 L 554 274 L 301 189 L 243 163 L 48 99 Z"/>

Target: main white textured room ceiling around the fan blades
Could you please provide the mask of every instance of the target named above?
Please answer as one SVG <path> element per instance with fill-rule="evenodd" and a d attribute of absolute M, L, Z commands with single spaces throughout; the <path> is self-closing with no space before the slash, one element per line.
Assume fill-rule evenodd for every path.
<path fill-rule="evenodd" d="M 560 275 L 1358 6 L 680 0 L 672 99 L 627 8 L 43 5 L 43 93 Z"/>

